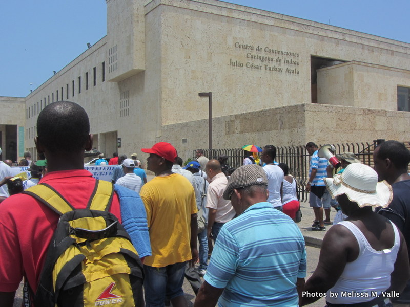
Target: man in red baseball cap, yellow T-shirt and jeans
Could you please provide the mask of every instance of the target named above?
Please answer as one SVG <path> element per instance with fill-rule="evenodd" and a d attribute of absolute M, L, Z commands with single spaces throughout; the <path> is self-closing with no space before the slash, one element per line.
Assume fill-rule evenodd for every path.
<path fill-rule="evenodd" d="M 185 265 L 198 260 L 194 188 L 172 172 L 177 152 L 170 143 L 159 142 L 141 151 L 150 154 L 147 169 L 156 176 L 140 191 L 152 249 L 152 256 L 144 259 L 146 306 L 163 305 L 166 297 L 174 307 L 187 306 L 182 290 Z"/>

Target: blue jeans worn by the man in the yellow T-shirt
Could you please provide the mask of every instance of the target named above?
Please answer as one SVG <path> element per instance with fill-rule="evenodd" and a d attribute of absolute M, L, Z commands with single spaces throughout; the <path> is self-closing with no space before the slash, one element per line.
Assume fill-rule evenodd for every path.
<path fill-rule="evenodd" d="M 186 262 L 155 268 L 144 265 L 146 307 L 163 307 L 165 297 L 172 300 L 183 295 L 182 283 Z"/>

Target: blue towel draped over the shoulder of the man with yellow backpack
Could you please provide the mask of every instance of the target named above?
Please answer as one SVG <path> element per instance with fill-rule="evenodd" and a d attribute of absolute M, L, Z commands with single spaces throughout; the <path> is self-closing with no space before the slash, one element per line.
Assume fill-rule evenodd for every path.
<path fill-rule="evenodd" d="M 122 226 L 130 235 L 131 242 L 139 257 L 151 256 L 150 235 L 144 202 L 138 193 L 120 185 L 115 184 L 114 191 L 119 198 Z"/>

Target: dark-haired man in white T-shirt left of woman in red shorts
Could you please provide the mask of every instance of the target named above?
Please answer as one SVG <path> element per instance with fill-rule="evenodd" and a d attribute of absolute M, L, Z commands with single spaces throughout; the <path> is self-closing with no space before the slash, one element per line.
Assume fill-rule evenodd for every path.
<path fill-rule="evenodd" d="M 262 151 L 262 161 L 266 163 L 263 166 L 268 177 L 268 202 L 272 204 L 275 209 L 283 211 L 281 190 L 283 185 L 283 170 L 274 164 L 276 158 L 276 147 L 273 145 L 266 145 Z"/>

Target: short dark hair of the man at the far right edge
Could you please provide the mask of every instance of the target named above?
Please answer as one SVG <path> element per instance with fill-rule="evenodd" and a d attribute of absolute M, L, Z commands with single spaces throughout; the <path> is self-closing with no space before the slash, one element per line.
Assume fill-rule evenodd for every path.
<path fill-rule="evenodd" d="M 398 141 L 385 141 L 378 145 L 377 157 L 379 159 L 390 159 L 397 169 L 407 169 L 410 163 L 410 151 L 403 143 Z"/>

